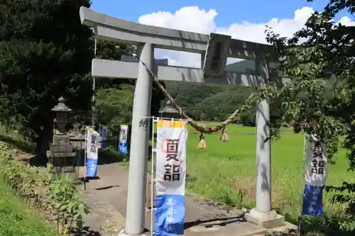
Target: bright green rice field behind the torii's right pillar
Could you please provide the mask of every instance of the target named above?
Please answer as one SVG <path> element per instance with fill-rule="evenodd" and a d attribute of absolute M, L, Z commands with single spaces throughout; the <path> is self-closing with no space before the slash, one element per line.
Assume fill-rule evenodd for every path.
<path fill-rule="evenodd" d="M 220 142 L 218 133 L 204 135 L 207 143 L 205 150 L 197 148 L 200 134 L 189 133 L 187 193 L 198 193 L 233 206 L 253 207 L 256 186 L 255 127 L 229 125 L 227 130 L 234 132 L 229 134 L 229 142 Z M 296 216 L 302 202 L 302 133 L 294 134 L 291 128 L 283 128 L 281 139 L 272 142 L 271 150 L 273 208 Z M 336 164 L 328 165 L 327 184 L 355 181 L 354 175 L 346 172 L 348 162 L 345 150 L 340 150 L 334 160 Z M 324 208 L 328 211 L 334 210 L 334 206 L 325 203 L 330 197 L 330 194 L 324 196 Z"/>

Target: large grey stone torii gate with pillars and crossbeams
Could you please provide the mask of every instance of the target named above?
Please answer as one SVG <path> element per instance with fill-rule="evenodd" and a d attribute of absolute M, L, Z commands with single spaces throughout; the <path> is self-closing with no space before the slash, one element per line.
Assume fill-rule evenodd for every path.
<path fill-rule="evenodd" d="M 213 83 L 227 85 L 263 86 L 268 82 L 266 53 L 270 45 L 231 39 L 229 35 L 204 35 L 182 30 L 146 26 L 80 8 L 80 19 L 85 26 L 94 28 L 95 37 L 127 45 L 138 45 L 140 62 L 92 60 L 92 77 L 136 79 L 134 91 L 132 139 L 129 164 L 129 187 L 126 208 L 126 235 L 139 235 L 144 230 L 147 157 L 151 115 L 151 86 L 153 79 L 175 82 Z M 200 53 L 200 69 L 173 67 L 153 63 L 154 49 L 162 48 Z M 226 58 L 255 60 L 256 70 L 248 74 L 225 72 Z M 203 60 L 204 59 L 204 60 Z M 256 208 L 247 220 L 263 227 L 284 225 L 284 218 L 271 208 L 271 142 L 270 110 L 268 100 L 258 103 L 256 109 Z M 237 150 L 236 150 L 237 152 Z"/>

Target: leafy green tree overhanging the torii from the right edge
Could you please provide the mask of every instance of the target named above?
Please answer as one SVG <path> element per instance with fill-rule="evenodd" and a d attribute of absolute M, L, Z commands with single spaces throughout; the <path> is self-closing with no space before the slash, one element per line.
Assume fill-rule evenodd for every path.
<path fill-rule="evenodd" d="M 256 96 L 267 95 L 282 104 L 283 112 L 272 122 L 305 120 L 305 131 L 327 143 L 328 157 L 341 143 L 348 150 L 349 170 L 355 167 L 355 26 L 336 23 L 334 18 L 340 12 L 354 17 L 354 11 L 353 0 L 330 0 L 292 38 L 281 38 L 269 28 L 267 40 L 278 52 L 273 59 L 280 58 L 278 69 L 290 83 L 281 90 L 268 86 Z M 355 230 L 355 184 L 328 190 L 337 191 L 333 201 L 346 206 L 339 226 Z"/>

